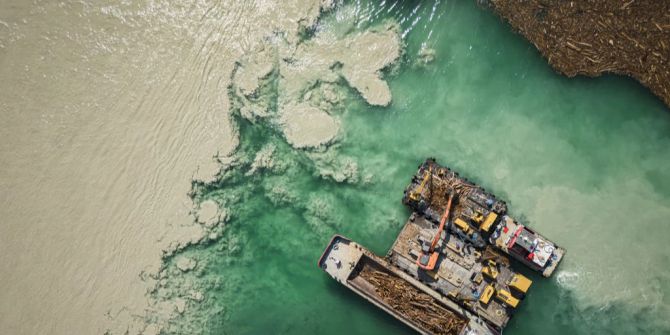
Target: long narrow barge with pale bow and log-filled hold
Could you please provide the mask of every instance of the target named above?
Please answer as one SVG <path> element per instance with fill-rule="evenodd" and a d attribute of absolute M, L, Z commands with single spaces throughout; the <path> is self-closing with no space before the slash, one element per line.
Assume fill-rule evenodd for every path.
<path fill-rule="evenodd" d="M 499 334 L 467 309 L 343 236 L 332 238 L 318 266 L 420 334 Z"/>

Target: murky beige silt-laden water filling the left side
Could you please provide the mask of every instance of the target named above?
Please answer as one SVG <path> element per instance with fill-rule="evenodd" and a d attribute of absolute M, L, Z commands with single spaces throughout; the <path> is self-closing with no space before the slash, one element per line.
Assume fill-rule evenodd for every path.
<path fill-rule="evenodd" d="M 342 102 L 332 92 L 340 76 L 369 103 L 390 102 L 380 71 L 398 58 L 397 30 L 336 36 L 339 54 L 323 52 L 319 43 L 329 41 L 304 40 L 304 31 L 333 6 L 0 4 L 4 333 L 171 332 L 171 320 L 204 293 L 168 289 L 177 275 L 166 262 L 222 233 L 225 204 L 188 195 L 236 159 L 237 107 L 248 119 L 271 117 L 271 89 L 297 88 L 277 109 L 291 143 L 308 147 L 337 133 L 337 119 L 324 114 Z M 287 57 L 312 67 L 280 68 Z M 272 151 L 258 153 L 251 174 L 281 167 Z M 294 201 L 286 184 L 271 189 L 272 201 Z M 179 273 L 199 271 L 195 259 L 179 260 Z"/>

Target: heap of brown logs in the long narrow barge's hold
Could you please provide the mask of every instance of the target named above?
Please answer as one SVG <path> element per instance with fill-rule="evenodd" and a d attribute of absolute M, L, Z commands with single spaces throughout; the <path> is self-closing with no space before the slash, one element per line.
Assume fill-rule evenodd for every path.
<path fill-rule="evenodd" d="M 464 319 L 394 275 L 365 267 L 360 276 L 375 286 L 384 302 L 434 334 L 458 334 L 465 326 Z"/>

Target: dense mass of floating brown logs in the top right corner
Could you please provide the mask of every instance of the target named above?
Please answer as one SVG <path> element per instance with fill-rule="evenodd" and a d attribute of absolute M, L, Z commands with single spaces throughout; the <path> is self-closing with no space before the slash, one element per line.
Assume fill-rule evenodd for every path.
<path fill-rule="evenodd" d="M 502 1 L 490 7 L 558 72 L 631 76 L 670 106 L 670 2 Z"/>

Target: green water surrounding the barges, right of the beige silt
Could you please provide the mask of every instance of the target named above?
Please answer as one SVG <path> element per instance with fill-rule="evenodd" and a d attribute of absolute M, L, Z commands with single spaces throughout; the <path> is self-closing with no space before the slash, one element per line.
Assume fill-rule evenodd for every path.
<path fill-rule="evenodd" d="M 667 108 L 627 78 L 555 74 L 473 1 L 345 7 L 320 29 L 346 15 L 358 27 L 401 24 L 405 55 L 386 75 L 392 105 L 350 92 L 326 152 L 293 149 L 273 126 L 239 118 L 236 161 L 193 192 L 226 208 L 223 236 L 183 252 L 195 271 L 168 264 L 166 287 L 205 293 L 173 332 L 411 333 L 316 262 L 334 233 L 385 254 L 409 215 L 402 191 L 434 156 L 568 251 L 552 278 L 529 275 L 505 334 L 670 333 Z M 252 169 L 259 152 L 271 163 Z"/>

